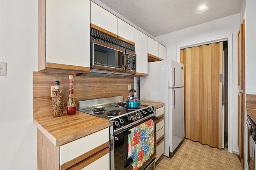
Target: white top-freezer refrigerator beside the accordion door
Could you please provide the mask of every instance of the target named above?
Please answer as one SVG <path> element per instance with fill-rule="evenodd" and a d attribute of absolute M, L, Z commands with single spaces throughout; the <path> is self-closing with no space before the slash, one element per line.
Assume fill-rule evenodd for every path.
<path fill-rule="evenodd" d="M 148 76 L 140 77 L 140 100 L 164 103 L 164 155 L 171 157 L 185 137 L 183 64 L 148 63 Z"/>

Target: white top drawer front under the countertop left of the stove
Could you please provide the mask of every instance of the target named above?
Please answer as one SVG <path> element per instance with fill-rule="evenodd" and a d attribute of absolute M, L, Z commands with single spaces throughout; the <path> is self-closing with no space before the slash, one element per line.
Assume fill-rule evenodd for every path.
<path fill-rule="evenodd" d="M 109 141 L 109 128 L 60 146 L 60 165 Z"/>

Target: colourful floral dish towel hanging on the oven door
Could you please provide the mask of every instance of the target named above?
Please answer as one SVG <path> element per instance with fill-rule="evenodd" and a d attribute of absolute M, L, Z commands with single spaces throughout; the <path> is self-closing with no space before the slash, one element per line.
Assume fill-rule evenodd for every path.
<path fill-rule="evenodd" d="M 130 129 L 130 131 L 132 139 L 132 166 L 134 170 L 138 170 L 154 153 L 154 122 L 150 119 Z"/>

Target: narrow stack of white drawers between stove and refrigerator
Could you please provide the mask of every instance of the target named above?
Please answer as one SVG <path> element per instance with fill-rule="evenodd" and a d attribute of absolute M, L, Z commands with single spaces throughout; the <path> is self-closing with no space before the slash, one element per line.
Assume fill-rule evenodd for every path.
<path fill-rule="evenodd" d="M 156 159 L 164 153 L 164 106 L 156 109 Z"/>

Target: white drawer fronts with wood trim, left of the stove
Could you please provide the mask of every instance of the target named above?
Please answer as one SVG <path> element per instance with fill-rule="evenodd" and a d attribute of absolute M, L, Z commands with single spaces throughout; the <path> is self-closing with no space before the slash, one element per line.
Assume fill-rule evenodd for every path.
<path fill-rule="evenodd" d="M 66 169 L 68 167 L 66 164 L 75 164 L 75 167 L 78 169 L 109 170 L 110 160 L 108 145 L 109 128 L 102 129 L 101 131 L 61 145 L 60 167 L 61 169 Z M 82 162 L 78 164 L 81 160 Z M 104 164 L 104 166 L 102 166 L 102 164 Z"/>

